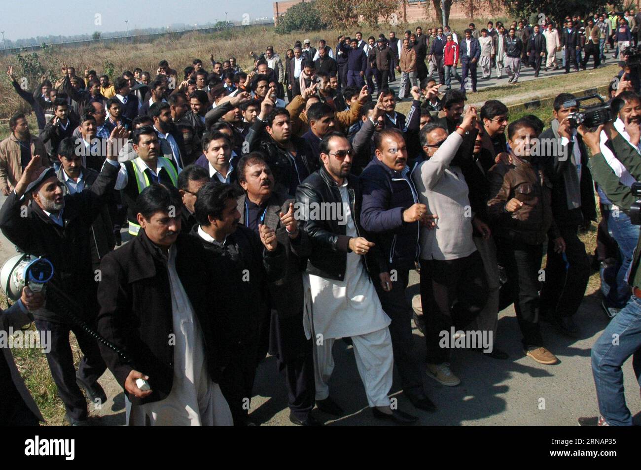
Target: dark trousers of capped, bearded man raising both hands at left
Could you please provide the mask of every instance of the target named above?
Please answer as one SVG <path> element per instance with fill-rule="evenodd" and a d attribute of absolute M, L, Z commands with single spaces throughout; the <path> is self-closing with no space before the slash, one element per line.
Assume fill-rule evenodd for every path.
<path fill-rule="evenodd" d="M 76 379 L 87 385 L 93 385 L 103 375 L 107 366 L 96 339 L 89 336 L 79 327 L 67 323 L 35 319 L 36 328 L 41 332 L 51 332 L 51 351 L 47 353 L 47 362 L 51 376 L 58 387 L 58 395 L 65 404 L 67 414 L 80 421 L 87 419 L 87 401 L 76 384 Z M 69 332 L 74 332 L 78 345 L 83 353 L 78 365 L 78 377 L 74 368 L 74 357 L 69 344 Z"/>

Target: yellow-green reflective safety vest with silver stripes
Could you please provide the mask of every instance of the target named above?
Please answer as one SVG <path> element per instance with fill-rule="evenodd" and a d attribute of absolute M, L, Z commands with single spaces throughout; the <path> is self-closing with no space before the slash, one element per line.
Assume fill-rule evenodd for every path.
<path fill-rule="evenodd" d="M 162 170 L 158 174 L 158 179 L 160 182 L 174 186 L 178 188 L 178 171 L 174 167 L 174 164 L 169 158 L 158 157 L 158 163 L 160 164 Z M 127 206 L 127 220 L 129 222 L 129 234 L 133 236 L 138 235 L 140 231 L 140 225 L 138 225 L 137 220 L 137 210 L 136 210 L 136 201 L 138 195 L 149 186 L 152 181 L 147 176 L 145 170 L 147 170 L 147 165 L 140 160 L 140 158 L 135 158 L 130 161 L 124 162 L 125 169 L 127 170 L 128 183 L 126 188 L 121 191 L 122 202 Z"/>

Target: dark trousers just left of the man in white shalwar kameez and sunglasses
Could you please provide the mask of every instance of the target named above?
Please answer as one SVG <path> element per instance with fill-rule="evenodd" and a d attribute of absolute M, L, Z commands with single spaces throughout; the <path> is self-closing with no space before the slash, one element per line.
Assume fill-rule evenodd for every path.
<path fill-rule="evenodd" d="M 315 403 L 313 341 L 303 328 L 303 312 L 281 318 L 272 310 L 269 352 L 276 356 L 278 371 L 285 375 L 289 409 L 305 421 Z"/>

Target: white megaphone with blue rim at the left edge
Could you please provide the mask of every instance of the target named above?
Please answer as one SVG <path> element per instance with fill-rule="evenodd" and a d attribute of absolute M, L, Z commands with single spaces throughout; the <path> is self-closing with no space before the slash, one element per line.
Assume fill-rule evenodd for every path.
<path fill-rule="evenodd" d="M 53 277 L 53 264 L 46 258 L 29 254 L 10 257 L 0 268 L 0 287 L 8 298 L 16 302 L 24 286 L 40 292 Z"/>

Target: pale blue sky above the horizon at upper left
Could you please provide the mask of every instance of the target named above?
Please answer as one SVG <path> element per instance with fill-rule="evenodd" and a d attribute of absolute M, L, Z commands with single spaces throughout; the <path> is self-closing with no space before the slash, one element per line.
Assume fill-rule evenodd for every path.
<path fill-rule="evenodd" d="M 219 6 L 220 5 L 220 6 Z M 92 34 L 273 17 L 272 0 L 3 0 L 0 31 L 8 40 Z M 99 16 L 96 16 L 99 15 Z M 125 24 L 124 20 L 128 20 Z M 100 24 L 101 23 L 101 24 Z"/>

